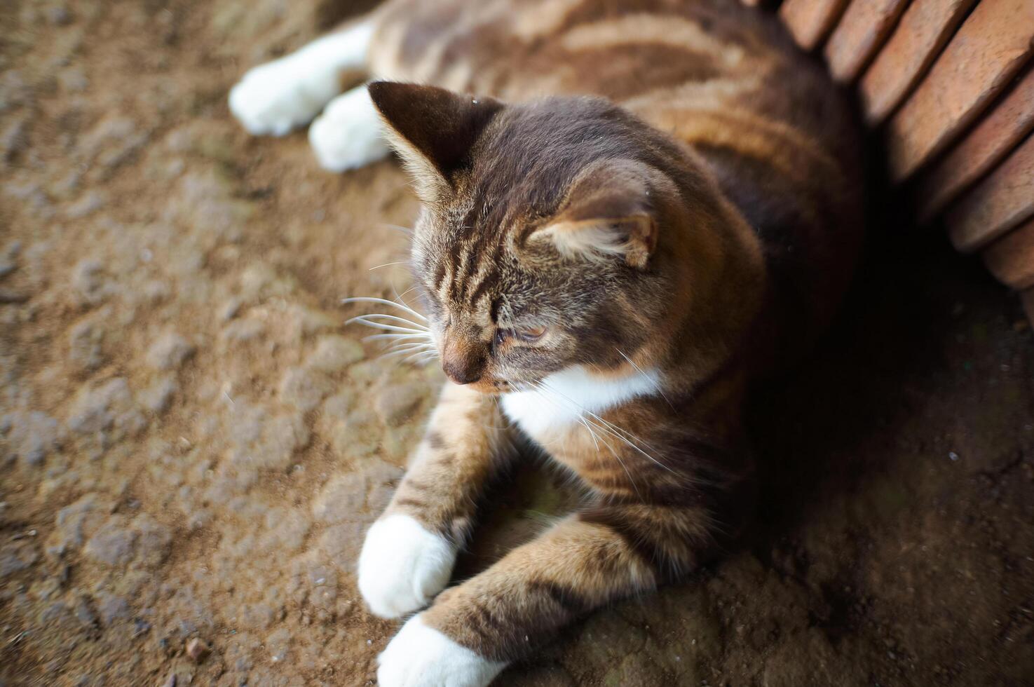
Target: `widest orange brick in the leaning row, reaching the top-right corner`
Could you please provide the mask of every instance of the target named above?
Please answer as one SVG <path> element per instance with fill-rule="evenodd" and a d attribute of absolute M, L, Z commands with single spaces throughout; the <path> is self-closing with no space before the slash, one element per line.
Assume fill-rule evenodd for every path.
<path fill-rule="evenodd" d="M 970 125 L 1034 53 L 1034 1 L 983 0 L 888 121 L 894 181 L 911 176 Z"/>

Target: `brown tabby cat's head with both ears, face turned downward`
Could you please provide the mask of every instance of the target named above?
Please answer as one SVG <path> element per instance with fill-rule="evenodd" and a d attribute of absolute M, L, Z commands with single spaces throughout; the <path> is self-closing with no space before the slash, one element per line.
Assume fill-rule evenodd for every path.
<path fill-rule="evenodd" d="M 424 203 L 413 267 L 454 382 L 522 389 L 666 344 L 687 296 L 671 228 L 713 215 L 683 200 L 702 183 L 683 149 L 598 98 L 369 89 Z"/>

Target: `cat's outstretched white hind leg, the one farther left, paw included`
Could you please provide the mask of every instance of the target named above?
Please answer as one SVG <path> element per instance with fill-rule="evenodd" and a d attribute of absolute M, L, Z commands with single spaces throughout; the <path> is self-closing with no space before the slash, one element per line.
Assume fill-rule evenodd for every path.
<path fill-rule="evenodd" d="M 365 66 L 372 35 L 372 22 L 362 22 L 250 69 L 230 91 L 231 112 L 254 135 L 308 123 L 341 92 L 342 77 Z"/>

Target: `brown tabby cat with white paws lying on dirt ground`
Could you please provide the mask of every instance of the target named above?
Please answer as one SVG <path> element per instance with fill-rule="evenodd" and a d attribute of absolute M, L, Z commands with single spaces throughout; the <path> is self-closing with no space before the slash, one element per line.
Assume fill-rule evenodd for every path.
<path fill-rule="evenodd" d="M 356 68 L 378 81 L 339 94 Z M 394 149 L 423 202 L 425 312 L 363 320 L 449 378 L 359 559 L 372 613 L 419 611 L 381 685 L 488 684 L 735 540 L 756 489 L 744 397 L 827 324 L 863 226 L 853 112 L 773 18 L 735 0 L 390 0 L 248 71 L 230 107 L 253 133 L 314 118 L 329 170 Z M 446 589 L 515 438 L 584 502 Z"/>

